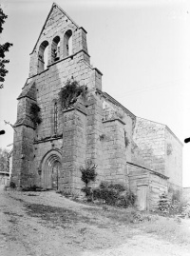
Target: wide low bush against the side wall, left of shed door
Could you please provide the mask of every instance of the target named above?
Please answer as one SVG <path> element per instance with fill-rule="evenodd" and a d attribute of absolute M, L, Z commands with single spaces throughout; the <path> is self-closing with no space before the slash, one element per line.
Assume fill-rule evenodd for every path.
<path fill-rule="evenodd" d="M 100 187 L 93 189 L 93 199 L 103 200 L 109 206 L 131 207 L 135 204 L 136 196 L 122 184 L 102 182 Z"/>

